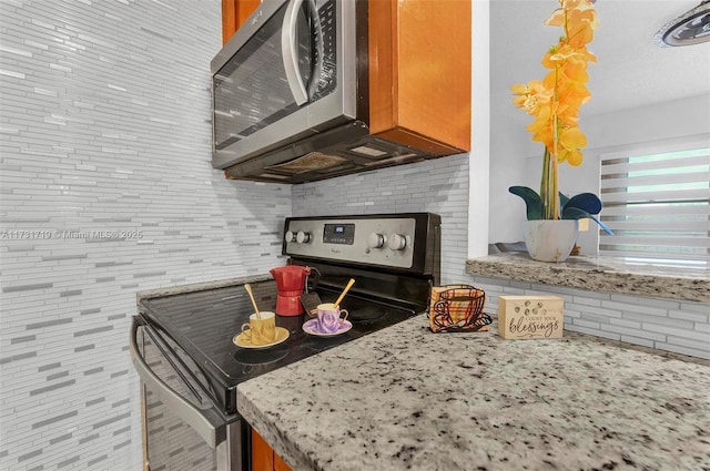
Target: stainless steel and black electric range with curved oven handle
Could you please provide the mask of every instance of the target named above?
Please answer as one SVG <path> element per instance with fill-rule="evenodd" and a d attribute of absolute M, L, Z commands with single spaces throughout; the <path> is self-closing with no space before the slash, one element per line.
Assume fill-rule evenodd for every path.
<path fill-rule="evenodd" d="M 440 270 L 438 215 L 291 217 L 283 234 L 282 253 L 288 264 L 311 267 L 306 290 L 323 303 L 355 279 L 341 303 L 353 328 L 311 336 L 302 329 L 307 315 L 277 316 L 287 340 L 244 349 L 233 342 L 253 313 L 243 285 L 142 299 L 130 339 L 150 469 L 179 460 L 191 470 L 250 470 L 251 433 L 239 414 L 237 385 L 427 310 Z M 251 283 L 256 303 L 275 310 L 276 284 L 261 279 Z"/>

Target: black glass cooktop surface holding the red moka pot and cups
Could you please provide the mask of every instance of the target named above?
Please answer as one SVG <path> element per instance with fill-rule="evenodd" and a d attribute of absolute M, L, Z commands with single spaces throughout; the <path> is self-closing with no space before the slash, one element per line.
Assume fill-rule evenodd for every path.
<path fill-rule="evenodd" d="M 261 310 L 274 311 L 276 284 L 252 284 Z M 338 293 L 318 290 L 323 303 L 333 303 Z M 353 328 L 334 337 L 315 337 L 303 331 L 306 315 L 276 316 L 276 325 L 288 330 L 284 342 L 264 349 L 245 349 L 233 342 L 253 313 L 243 286 L 163 296 L 141 301 L 141 313 L 160 335 L 174 340 L 202 369 L 205 389 L 225 412 L 236 410 L 236 385 L 366 334 L 399 322 L 417 314 L 413 306 L 373 301 L 348 294 L 341 303 L 348 310 Z M 203 381 L 205 382 L 205 381 Z"/>

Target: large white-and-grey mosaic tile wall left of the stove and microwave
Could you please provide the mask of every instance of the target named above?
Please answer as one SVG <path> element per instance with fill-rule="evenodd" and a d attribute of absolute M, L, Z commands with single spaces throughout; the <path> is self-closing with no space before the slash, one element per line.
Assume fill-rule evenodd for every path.
<path fill-rule="evenodd" d="M 283 264 L 210 165 L 220 0 L 2 0 L 0 469 L 142 469 L 135 293 Z"/>

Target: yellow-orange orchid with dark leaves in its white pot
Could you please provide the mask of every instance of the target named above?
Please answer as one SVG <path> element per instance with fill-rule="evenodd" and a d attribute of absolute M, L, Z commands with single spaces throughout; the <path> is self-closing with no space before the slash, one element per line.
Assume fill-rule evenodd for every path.
<path fill-rule="evenodd" d="M 559 191 L 559 165 L 567 162 L 577 166 L 582 162 L 581 150 L 587 137 L 577 125 L 579 107 L 591 99 L 587 90 L 587 65 L 596 58 L 587 50 L 597 29 L 594 0 L 558 0 L 560 7 L 545 21 L 561 27 L 564 35 L 552 45 L 542 65 L 549 70 L 544 80 L 511 86 L 514 103 L 535 116 L 527 130 L 532 141 L 545 145 L 540 192 L 527 186 L 511 186 L 508 191 L 520 196 L 527 207 L 528 231 L 526 245 L 535 259 L 562 262 L 577 239 L 578 219 L 591 218 L 611 233 L 595 215 L 601 211 L 601 201 L 592 193 L 566 197 Z M 551 221 L 566 221 L 566 228 L 555 227 Z M 558 226 L 558 225 L 556 225 Z M 537 231 L 544 231 L 538 233 Z M 566 233 L 566 234 L 565 234 Z M 538 247 L 558 240 L 561 247 Z"/>

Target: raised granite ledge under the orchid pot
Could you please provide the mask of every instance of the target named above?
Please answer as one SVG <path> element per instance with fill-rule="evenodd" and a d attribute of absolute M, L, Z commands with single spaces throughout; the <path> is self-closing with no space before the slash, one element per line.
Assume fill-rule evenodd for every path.
<path fill-rule="evenodd" d="M 556 264 L 510 252 L 470 258 L 466 260 L 466 273 L 592 291 L 710 301 L 708 269 L 625 264 L 605 257 L 575 256 Z"/>

